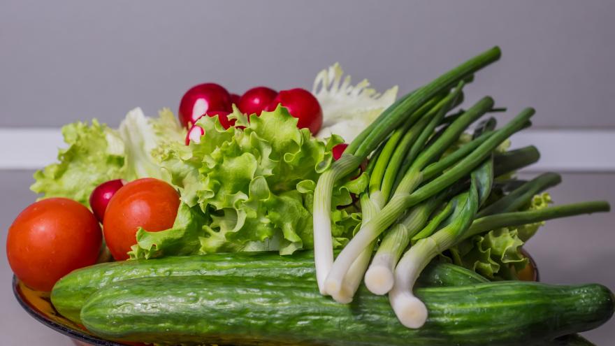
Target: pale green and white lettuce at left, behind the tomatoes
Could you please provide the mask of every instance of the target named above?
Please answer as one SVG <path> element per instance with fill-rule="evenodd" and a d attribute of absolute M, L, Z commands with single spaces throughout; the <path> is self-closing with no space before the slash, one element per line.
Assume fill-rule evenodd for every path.
<path fill-rule="evenodd" d="M 89 194 L 107 180 L 166 179 L 155 152 L 168 143 L 183 143 L 185 131 L 168 109 L 150 118 L 136 108 L 120 129 L 92 120 L 65 125 L 62 135 L 68 147 L 59 150 L 57 163 L 34 173 L 30 188 L 42 198 L 66 197 L 89 206 Z"/>

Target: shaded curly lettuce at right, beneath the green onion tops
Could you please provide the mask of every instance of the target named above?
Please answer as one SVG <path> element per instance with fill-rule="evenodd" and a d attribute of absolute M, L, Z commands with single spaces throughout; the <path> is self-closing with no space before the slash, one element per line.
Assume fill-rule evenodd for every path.
<path fill-rule="evenodd" d="M 549 203 L 549 194 L 537 194 L 523 210 L 540 210 Z M 514 280 L 528 264 L 521 247 L 542 225 L 544 222 L 504 227 L 473 236 L 451 247 L 449 260 L 491 280 Z"/>

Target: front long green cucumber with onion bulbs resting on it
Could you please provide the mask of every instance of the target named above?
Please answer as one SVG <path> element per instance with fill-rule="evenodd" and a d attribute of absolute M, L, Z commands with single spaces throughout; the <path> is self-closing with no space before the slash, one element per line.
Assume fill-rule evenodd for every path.
<path fill-rule="evenodd" d="M 116 282 L 81 310 L 92 333 L 161 345 L 544 345 L 613 314 L 600 284 L 488 282 L 415 291 L 429 317 L 398 322 L 386 296 L 359 289 L 353 303 L 321 296 L 313 281 L 255 277 L 149 277 Z"/>

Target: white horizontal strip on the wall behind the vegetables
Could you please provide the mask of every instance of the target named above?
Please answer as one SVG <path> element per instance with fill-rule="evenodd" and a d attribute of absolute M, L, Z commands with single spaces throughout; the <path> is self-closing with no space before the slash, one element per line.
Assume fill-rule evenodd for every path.
<path fill-rule="evenodd" d="M 512 147 L 536 145 L 537 164 L 526 171 L 615 172 L 615 130 L 530 129 Z M 0 128 L 0 169 L 38 169 L 55 161 L 64 147 L 59 129 Z"/>

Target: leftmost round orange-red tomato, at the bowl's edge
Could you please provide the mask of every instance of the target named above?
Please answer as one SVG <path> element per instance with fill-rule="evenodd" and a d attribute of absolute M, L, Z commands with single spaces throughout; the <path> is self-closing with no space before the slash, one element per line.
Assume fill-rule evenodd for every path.
<path fill-rule="evenodd" d="M 101 226 L 85 206 L 71 199 L 43 199 L 10 225 L 6 255 L 24 284 L 51 291 L 64 275 L 96 263 L 101 244 Z"/>

